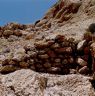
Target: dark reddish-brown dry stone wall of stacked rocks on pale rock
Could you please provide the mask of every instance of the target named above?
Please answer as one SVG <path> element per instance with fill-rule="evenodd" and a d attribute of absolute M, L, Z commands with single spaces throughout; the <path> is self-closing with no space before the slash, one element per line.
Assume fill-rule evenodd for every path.
<path fill-rule="evenodd" d="M 91 35 L 84 34 L 84 40 L 67 39 L 57 35 L 54 39 L 41 40 L 33 46 L 15 50 L 10 59 L 2 61 L 0 72 L 3 74 L 19 69 L 31 69 L 51 74 L 91 74 L 93 56 Z"/>

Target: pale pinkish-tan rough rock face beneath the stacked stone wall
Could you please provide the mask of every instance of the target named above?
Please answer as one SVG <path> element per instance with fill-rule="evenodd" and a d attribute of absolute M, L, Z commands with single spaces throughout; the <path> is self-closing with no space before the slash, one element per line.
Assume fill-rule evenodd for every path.
<path fill-rule="evenodd" d="M 2 76 L 1 82 L 7 88 L 2 96 L 95 96 L 89 77 L 82 75 L 38 74 L 22 69 Z"/>

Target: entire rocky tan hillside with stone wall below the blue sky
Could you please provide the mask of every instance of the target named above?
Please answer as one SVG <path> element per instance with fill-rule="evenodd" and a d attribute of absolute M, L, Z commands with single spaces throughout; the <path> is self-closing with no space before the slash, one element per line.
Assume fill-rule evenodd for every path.
<path fill-rule="evenodd" d="M 94 22 L 95 0 L 59 0 L 35 24 L 0 27 L 0 96 L 95 96 Z"/>

